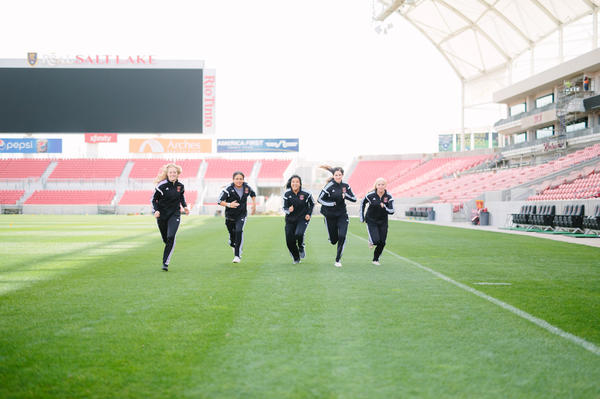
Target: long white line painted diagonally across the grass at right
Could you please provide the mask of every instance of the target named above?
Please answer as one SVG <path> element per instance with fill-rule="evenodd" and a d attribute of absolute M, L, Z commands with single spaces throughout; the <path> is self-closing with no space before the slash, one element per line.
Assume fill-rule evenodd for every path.
<path fill-rule="evenodd" d="M 353 235 L 354 237 L 360 238 L 363 241 L 367 241 L 363 237 L 358 236 L 358 235 L 356 235 L 354 233 L 349 233 L 349 234 Z M 410 263 L 411 265 L 418 267 L 419 269 L 425 270 L 426 272 L 429 272 L 429 273 L 433 274 L 434 276 L 436 276 L 438 278 L 441 278 L 442 280 L 444 280 L 444 281 L 446 281 L 446 282 L 448 282 L 450 284 L 453 284 L 453 285 L 455 285 L 455 286 L 457 286 L 457 287 L 459 287 L 459 288 L 461 288 L 461 289 L 463 289 L 463 290 L 465 290 L 467 292 L 470 292 L 471 294 L 477 295 L 478 297 L 483 298 L 486 301 L 489 301 L 489 302 L 491 302 L 491 303 L 493 303 L 495 305 L 498 305 L 501 308 L 506 309 L 509 312 L 512 312 L 512 313 L 516 314 L 517 316 L 522 317 L 525 320 L 532 322 L 533 324 L 536 324 L 537 326 L 543 328 L 544 330 L 547 330 L 547 331 L 551 332 L 552 334 L 555 334 L 555 335 L 558 335 L 559 337 L 567 339 L 567 340 L 569 340 L 569 341 L 571 341 L 571 342 L 573 342 L 573 343 L 575 343 L 575 344 L 583 347 L 584 349 L 587 349 L 588 351 L 592 352 L 594 355 L 600 356 L 600 347 L 594 345 L 593 343 L 591 343 L 589 341 L 586 341 L 583 338 L 580 338 L 580 337 L 578 337 L 576 335 L 573 335 L 571 333 L 563 331 L 560 328 L 558 328 L 556 326 L 553 326 L 552 324 L 548 323 L 545 320 L 542 320 L 542 319 L 540 319 L 538 317 L 535 317 L 535 316 L 533 316 L 533 315 L 531 315 L 531 314 L 529 314 L 529 313 L 527 313 L 527 312 L 525 312 L 525 311 L 523 311 L 521 309 L 518 309 L 518 308 L 516 308 L 516 307 L 514 307 L 512 305 L 507 304 L 506 302 L 502 302 L 499 299 L 496 299 L 496 298 L 491 297 L 491 296 L 489 296 L 487 294 L 484 294 L 483 292 L 478 291 L 475 288 L 469 287 L 468 285 L 465 285 L 463 283 L 459 283 L 458 281 L 455 281 L 455 280 L 451 279 L 450 277 L 448 277 L 448 276 L 446 276 L 446 275 L 444 275 L 444 274 L 442 274 L 440 272 L 436 272 L 435 270 L 430 269 L 427 266 L 423 266 L 420 263 L 417 263 L 417 262 L 415 262 L 413 260 L 410 260 L 408 258 L 400 256 L 400 255 L 398 255 L 398 254 L 390 251 L 389 249 L 385 249 L 384 251 L 387 252 L 387 253 L 389 253 L 389 254 L 391 254 L 391 255 L 393 255 L 393 256 L 395 256 L 396 258 L 398 258 L 400 260 L 403 260 L 404 262 Z"/>

